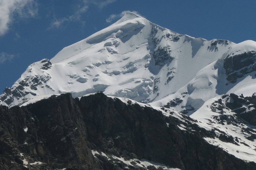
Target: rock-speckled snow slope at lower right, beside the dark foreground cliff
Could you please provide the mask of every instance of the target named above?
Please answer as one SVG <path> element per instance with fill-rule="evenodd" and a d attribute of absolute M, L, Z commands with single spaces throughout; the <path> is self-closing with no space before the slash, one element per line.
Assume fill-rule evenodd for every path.
<path fill-rule="evenodd" d="M 218 95 L 207 100 L 195 113 L 190 115 L 198 125 L 215 131 L 218 138 L 204 138 L 213 145 L 244 161 L 256 161 L 255 126 L 242 121 L 233 110 L 226 107 L 232 102 L 228 95 Z M 221 137 L 220 137 L 221 136 Z"/>

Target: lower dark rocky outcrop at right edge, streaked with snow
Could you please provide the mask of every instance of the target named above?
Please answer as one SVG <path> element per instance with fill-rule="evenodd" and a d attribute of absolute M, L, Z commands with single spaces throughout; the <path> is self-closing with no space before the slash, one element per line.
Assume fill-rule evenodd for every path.
<path fill-rule="evenodd" d="M 219 115 L 213 116 L 213 118 L 217 121 L 217 123 L 225 125 L 233 125 L 234 127 L 242 127 L 243 124 L 249 124 L 249 127 L 242 127 L 241 132 L 248 133 L 249 136 L 246 139 L 250 141 L 254 141 L 256 139 L 256 131 L 253 126 L 256 125 L 256 93 L 254 93 L 251 97 L 244 97 L 243 94 L 240 96 L 230 93 L 224 94 L 221 98 L 210 105 L 211 111 L 215 113 L 219 113 Z M 225 113 L 234 113 L 234 114 L 225 114 Z M 253 126 L 251 126 L 253 125 Z M 224 142 L 234 143 L 239 145 L 239 141 L 237 137 L 229 136 L 225 132 L 221 132 L 222 136 L 219 137 L 220 140 Z M 236 143 L 234 141 L 236 138 Z M 246 146 L 248 144 L 244 142 L 240 142 Z"/>

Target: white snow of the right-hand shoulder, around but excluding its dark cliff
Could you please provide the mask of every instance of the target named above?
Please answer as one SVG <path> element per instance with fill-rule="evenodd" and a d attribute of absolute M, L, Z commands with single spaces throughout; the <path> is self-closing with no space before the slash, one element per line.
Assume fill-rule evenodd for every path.
<path fill-rule="evenodd" d="M 187 115 L 190 115 L 197 111 L 204 102 L 217 95 L 234 93 L 237 95 L 243 94 L 244 96 L 251 96 L 256 92 L 256 72 L 253 71 L 244 75 L 239 78 L 236 83 L 229 83 L 226 80 L 227 76 L 223 68 L 223 59 L 250 51 L 256 52 L 255 41 L 248 40 L 233 45 L 221 58 L 199 70 L 196 76 L 185 86 L 175 93 L 169 94 L 150 104 L 153 106 L 164 106 L 169 101 L 179 98 L 183 101 L 171 108 L 175 111 L 182 111 L 187 107 L 190 108 L 189 105 L 191 105 L 195 110 L 187 113 Z"/>

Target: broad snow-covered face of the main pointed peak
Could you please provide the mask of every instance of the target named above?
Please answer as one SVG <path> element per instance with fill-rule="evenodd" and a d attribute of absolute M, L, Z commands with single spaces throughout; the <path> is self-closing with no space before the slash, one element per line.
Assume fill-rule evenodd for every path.
<path fill-rule="evenodd" d="M 157 101 L 182 88 L 232 45 L 182 35 L 127 13 L 51 60 L 30 65 L 0 99 L 14 106 L 36 96 L 103 91 L 139 102 Z"/>

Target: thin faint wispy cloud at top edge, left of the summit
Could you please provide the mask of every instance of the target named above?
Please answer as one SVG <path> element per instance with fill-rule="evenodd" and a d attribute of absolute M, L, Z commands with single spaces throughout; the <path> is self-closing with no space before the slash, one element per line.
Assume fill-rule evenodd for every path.
<path fill-rule="evenodd" d="M 117 1 L 117 0 L 101 0 L 101 1 L 83 0 L 83 1 L 79 1 L 79 3 L 76 5 L 76 8 L 74 10 L 75 11 L 74 14 L 63 17 L 63 18 L 56 18 L 54 16 L 54 19 L 50 23 L 48 30 L 54 29 L 54 28 L 60 28 L 64 23 L 68 23 L 71 21 L 80 21 L 80 22 L 84 23 L 84 21 L 82 21 L 82 19 L 81 19 L 82 15 L 87 12 L 87 10 L 89 9 L 89 6 L 91 4 L 96 5 L 97 7 L 102 9 L 106 5 L 113 3 L 115 1 Z"/>

